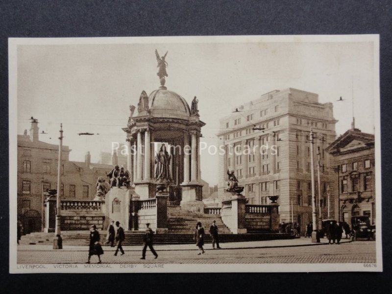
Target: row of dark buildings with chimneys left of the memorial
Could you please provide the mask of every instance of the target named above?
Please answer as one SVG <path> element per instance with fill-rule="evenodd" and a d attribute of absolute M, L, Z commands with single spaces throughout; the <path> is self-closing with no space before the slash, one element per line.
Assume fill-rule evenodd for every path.
<path fill-rule="evenodd" d="M 87 152 L 85 162 L 69 160 L 71 149 L 63 146 L 63 199 L 93 199 L 98 176 L 105 176 L 111 165 L 91 163 Z M 39 141 L 38 121 L 32 120 L 30 134 L 18 135 L 17 209 L 24 233 L 37 232 L 44 225 L 44 199 L 47 189 L 57 189 L 58 145 Z"/>

